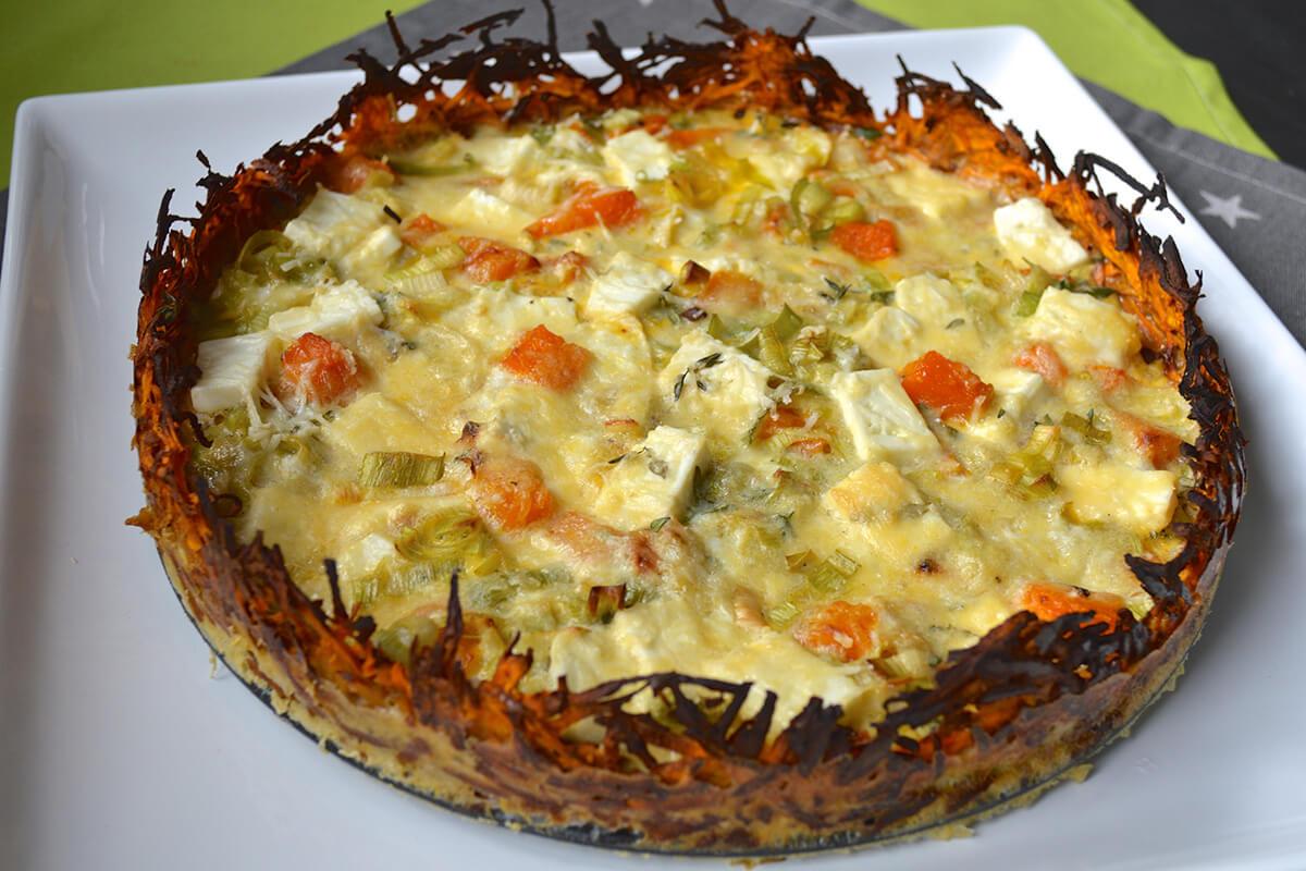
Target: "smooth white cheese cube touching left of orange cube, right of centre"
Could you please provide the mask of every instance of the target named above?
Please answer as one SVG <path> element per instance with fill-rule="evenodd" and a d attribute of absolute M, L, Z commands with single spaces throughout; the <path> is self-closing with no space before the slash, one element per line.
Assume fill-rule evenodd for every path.
<path fill-rule="evenodd" d="M 893 370 L 836 372 L 829 387 L 862 461 L 888 458 L 902 465 L 938 454 L 939 440 Z"/>

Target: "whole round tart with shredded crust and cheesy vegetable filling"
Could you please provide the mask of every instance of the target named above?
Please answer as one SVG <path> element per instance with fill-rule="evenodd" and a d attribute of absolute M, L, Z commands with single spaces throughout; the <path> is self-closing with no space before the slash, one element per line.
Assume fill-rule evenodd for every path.
<path fill-rule="evenodd" d="M 773 854 L 1027 800 L 1165 689 L 1242 439 L 1165 188 L 1105 196 L 803 34 L 588 78 L 513 14 L 159 213 L 150 533 L 336 752 L 623 849 Z M 451 46 L 453 50 L 451 51 Z"/>

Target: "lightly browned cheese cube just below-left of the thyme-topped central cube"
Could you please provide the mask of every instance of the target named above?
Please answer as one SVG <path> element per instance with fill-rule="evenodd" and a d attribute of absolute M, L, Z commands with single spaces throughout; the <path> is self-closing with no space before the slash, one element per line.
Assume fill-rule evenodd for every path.
<path fill-rule="evenodd" d="M 693 470 L 703 462 L 704 437 L 660 426 L 613 466 L 594 503 L 596 515 L 618 529 L 641 529 L 684 511 Z"/>

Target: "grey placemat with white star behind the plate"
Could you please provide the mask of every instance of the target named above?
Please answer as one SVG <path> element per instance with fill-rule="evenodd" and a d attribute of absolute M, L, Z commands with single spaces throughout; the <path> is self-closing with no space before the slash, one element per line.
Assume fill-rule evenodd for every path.
<path fill-rule="evenodd" d="M 421 34 L 448 33 L 503 5 L 486 0 L 431 0 L 400 16 L 398 22 L 415 43 Z M 526 12 L 516 25 L 517 33 L 543 33 L 542 8 L 522 5 Z M 585 34 L 596 18 L 605 21 L 623 44 L 639 43 L 649 33 L 703 39 L 699 22 L 712 12 L 704 0 L 558 0 L 555 5 L 564 51 L 586 47 Z M 754 26 L 789 33 L 811 18 L 812 35 L 905 29 L 852 0 L 731 0 L 730 10 Z M 377 25 L 278 72 L 346 69 L 351 64 L 345 56 L 357 47 L 366 47 L 381 59 L 394 54 L 389 33 Z M 1306 346 L 1306 172 L 1178 128 L 1113 91 L 1084 84 Z M 0 191 L 0 238 L 7 195 Z"/>

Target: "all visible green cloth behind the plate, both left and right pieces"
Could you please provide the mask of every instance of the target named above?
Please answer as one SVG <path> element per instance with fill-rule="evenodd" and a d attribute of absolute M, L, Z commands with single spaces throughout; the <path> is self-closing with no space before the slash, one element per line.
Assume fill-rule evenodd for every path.
<path fill-rule="evenodd" d="M 916 27 L 1024 24 L 1077 74 L 1181 127 L 1273 157 L 1215 67 L 1175 48 L 1127 0 L 858 1 Z M 421 3 L 4 3 L 0 33 L 10 39 L 0 52 L 0 188 L 9 184 L 14 112 L 29 97 L 261 76 L 381 21 L 385 9 L 400 13 Z M 505 5 L 512 4 L 487 3 Z"/>

